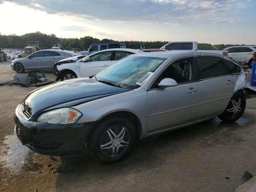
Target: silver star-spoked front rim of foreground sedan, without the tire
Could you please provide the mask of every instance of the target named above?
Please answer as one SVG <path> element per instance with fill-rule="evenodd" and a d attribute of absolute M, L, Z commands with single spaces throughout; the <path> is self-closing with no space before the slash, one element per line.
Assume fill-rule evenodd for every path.
<path fill-rule="evenodd" d="M 100 150 L 105 156 L 122 154 L 129 145 L 130 134 L 124 126 L 112 126 L 104 132 L 100 140 Z"/>

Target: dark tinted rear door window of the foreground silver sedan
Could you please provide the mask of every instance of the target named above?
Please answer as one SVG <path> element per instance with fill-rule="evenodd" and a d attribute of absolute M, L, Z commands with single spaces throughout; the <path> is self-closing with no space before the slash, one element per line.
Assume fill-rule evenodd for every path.
<path fill-rule="evenodd" d="M 195 57 L 200 80 L 226 75 L 224 63 L 216 57 Z"/>

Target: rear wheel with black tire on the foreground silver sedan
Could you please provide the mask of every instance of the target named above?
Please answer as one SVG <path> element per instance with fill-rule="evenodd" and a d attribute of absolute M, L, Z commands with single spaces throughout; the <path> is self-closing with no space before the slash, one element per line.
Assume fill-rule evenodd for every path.
<path fill-rule="evenodd" d="M 235 122 L 244 113 L 246 107 L 245 94 L 237 92 L 232 96 L 225 111 L 218 116 L 218 118 L 224 122 Z"/>

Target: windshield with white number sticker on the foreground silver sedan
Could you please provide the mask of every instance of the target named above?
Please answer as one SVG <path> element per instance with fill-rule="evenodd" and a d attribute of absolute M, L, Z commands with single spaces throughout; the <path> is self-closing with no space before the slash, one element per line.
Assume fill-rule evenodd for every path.
<path fill-rule="evenodd" d="M 143 79 L 148 78 L 146 74 L 152 74 L 165 60 L 166 58 L 158 57 L 126 57 L 97 74 L 96 80 L 121 88 L 136 89 L 143 84 L 138 81 L 142 77 Z"/>

